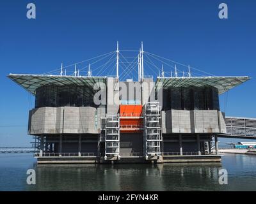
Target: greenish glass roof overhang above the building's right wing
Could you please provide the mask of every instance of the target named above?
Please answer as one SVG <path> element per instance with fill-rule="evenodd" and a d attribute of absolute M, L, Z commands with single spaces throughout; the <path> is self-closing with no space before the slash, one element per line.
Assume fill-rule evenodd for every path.
<path fill-rule="evenodd" d="M 163 84 L 163 89 L 170 87 L 204 87 L 218 89 L 219 94 L 250 80 L 250 77 L 157 77 L 156 87 Z"/>

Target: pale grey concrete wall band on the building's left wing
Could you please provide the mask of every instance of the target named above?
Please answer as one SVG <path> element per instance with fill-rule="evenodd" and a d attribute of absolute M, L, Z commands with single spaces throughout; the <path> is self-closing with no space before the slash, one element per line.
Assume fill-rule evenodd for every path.
<path fill-rule="evenodd" d="M 43 107 L 29 112 L 29 135 L 100 133 L 96 124 L 96 108 Z M 103 115 L 103 113 L 100 113 Z"/>

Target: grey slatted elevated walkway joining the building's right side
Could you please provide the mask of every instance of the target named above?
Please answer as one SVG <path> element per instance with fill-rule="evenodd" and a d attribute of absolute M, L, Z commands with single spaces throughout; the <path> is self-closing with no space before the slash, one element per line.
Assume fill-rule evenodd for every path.
<path fill-rule="evenodd" d="M 246 117 L 226 117 L 227 134 L 223 138 L 244 138 L 256 140 L 256 119 Z"/>

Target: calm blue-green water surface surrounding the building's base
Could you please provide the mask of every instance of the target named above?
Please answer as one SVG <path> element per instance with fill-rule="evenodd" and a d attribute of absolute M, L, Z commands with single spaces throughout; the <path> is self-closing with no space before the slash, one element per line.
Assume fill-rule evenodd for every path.
<path fill-rule="evenodd" d="M 36 170 L 36 185 L 26 171 Z M 228 185 L 218 170 L 228 171 Z M 0 191 L 256 191 L 256 156 L 222 163 L 38 165 L 32 154 L 0 154 Z"/>

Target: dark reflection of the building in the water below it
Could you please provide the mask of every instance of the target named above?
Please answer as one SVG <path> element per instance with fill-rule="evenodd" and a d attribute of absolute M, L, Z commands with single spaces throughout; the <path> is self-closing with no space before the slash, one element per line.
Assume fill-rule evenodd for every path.
<path fill-rule="evenodd" d="M 221 163 L 38 164 L 28 191 L 218 191 Z"/>

